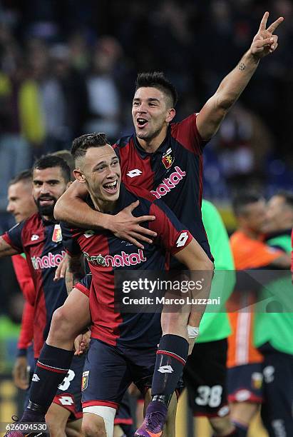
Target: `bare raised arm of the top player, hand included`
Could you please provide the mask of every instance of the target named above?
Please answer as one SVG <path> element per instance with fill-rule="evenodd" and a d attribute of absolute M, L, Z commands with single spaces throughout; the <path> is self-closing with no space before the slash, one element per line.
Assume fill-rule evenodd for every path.
<path fill-rule="evenodd" d="M 267 26 L 269 12 L 265 12 L 259 25 L 259 30 L 252 40 L 250 49 L 242 56 L 240 62 L 220 83 L 215 94 L 203 106 L 197 115 L 197 129 L 202 139 L 208 140 L 219 129 L 222 119 L 247 86 L 255 73 L 259 60 L 274 53 L 278 46 L 278 37 L 274 31 L 284 18 L 281 16 L 270 26 Z"/>

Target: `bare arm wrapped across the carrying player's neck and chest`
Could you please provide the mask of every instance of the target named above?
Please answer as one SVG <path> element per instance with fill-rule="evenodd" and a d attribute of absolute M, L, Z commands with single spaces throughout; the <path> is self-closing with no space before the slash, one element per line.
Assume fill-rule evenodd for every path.
<path fill-rule="evenodd" d="M 128 240 L 139 248 L 143 248 L 143 244 L 138 240 L 152 243 L 150 238 L 155 238 L 156 233 L 140 226 L 140 224 L 145 221 L 153 221 L 155 216 L 133 216 L 132 211 L 138 206 L 138 201 L 115 216 L 110 216 L 88 206 L 84 201 L 87 195 L 88 191 L 82 184 L 78 184 L 77 181 L 73 182 L 60 199 L 58 199 L 54 209 L 55 218 L 71 223 L 79 228 L 100 228 L 111 231 L 121 240 Z"/>

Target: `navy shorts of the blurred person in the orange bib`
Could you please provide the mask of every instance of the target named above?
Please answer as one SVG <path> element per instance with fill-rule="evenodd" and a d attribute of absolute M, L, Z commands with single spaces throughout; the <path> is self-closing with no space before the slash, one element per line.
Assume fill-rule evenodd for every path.
<path fill-rule="evenodd" d="M 229 402 L 262 403 L 262 363 L 229 368 L 227 390 Z"/>

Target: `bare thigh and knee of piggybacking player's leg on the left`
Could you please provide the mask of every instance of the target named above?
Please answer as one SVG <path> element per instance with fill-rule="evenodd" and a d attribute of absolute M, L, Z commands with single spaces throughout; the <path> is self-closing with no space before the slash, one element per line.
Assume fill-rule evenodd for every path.
<path fill-rule="evenodd" d="M 86 294 L 73 288 L 63 305 L 53 313 L 51 329 L 48 335 L 60 335 L 60 330 L 65 335 L 77 335 L 91 323 L 89 298 Z"/>

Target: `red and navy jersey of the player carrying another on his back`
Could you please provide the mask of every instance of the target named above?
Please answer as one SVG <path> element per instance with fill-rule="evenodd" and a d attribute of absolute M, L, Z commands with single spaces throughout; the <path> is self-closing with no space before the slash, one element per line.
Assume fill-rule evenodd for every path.
<path fill-rule="evenodd" d="M 80 228 L 69 228 L 63 223 L 61 228 L 63 244 L 68 253 L 73 255 L 83 252 L 91 268 L 93 279 L 90 308 L 93 338 L 113 346 L 133 344 L 135 347 L 145 347 L 158 343 L 161 334 L 160 314 L 115 312 L 114 272 L 133 269 L 163 270 L 165 252 L 175 254 L 182 250 L 190 243 L 192 235 L 170 209 L 163 202 L 153 199 L 148 191 L 135 187 L 130 190 L 121 184 L 113 214 L 139 199 L 140 204 L 133 211 L 135 215 L 156 217 L 155 221 L 148 223 L 148 227 L 157 232 L 158 236 L 153 244 L 145 243 L 143 250 L 128 241 L 121 241 L 110 232 L 84 231 Z M 85 288 L 90 288 L 90 283 L 81 285 L 81 291 L 85 292 Z"/>

